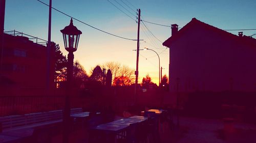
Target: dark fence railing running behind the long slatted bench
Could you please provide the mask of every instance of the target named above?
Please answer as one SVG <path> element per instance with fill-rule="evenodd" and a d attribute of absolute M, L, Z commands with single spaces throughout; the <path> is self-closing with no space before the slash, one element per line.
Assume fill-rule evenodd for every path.
<path fill-rule="evenodd" d="M 71 107 L 85 107 L 88 99 L 71 97 Z M 0 96 L 0 117 L 63 109 L 64 96 Z"/>

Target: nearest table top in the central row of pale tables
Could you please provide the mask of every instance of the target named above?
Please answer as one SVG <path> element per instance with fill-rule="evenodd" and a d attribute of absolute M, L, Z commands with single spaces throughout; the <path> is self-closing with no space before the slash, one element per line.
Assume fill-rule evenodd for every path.
<path fill-rule="evenodd" d="M 106 123 L 106 124 L 100 124 L 96 127 L 93 127 L 92 129 L 119 132 L 126 128 L 127 128 L 127 126 L 113 125 L 113 124 Z"/>

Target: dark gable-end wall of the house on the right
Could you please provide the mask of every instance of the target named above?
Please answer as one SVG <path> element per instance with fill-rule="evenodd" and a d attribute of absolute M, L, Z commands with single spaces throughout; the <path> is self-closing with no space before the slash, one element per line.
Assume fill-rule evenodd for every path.
<path fill-rule="evenodd" d="M 239 38 L 239 37 L 238 37 Z M 179 91 L 256 91 L 256 47 L 195 26 L 170 46 L 170 87 Z"/>

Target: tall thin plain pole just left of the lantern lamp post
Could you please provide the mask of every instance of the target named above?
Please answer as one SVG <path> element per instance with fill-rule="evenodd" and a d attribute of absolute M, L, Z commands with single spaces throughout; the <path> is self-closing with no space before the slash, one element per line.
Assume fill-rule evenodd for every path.
<path fill-rule="evenodd" d="M 47 42 L 47 63 L 46 63 L 46 92 L 50 94 L 50 56 L 51 56 L 51 23 L 52 23 L 52 0 L 49 1 L 49 24 L 48 24 L 48 42 Z"/>

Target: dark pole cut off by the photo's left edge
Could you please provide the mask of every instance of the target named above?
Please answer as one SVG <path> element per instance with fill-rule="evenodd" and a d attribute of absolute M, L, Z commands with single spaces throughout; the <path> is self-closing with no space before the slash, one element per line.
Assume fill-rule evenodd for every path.
<path fill-rule="evenodd" d="M 2 76 L 3 50 L 4 50 L 4 26 L 5 25 L 5 0 L 0 1 L 0 78 Z"/>

